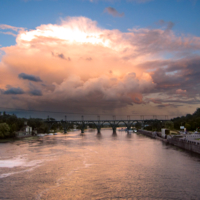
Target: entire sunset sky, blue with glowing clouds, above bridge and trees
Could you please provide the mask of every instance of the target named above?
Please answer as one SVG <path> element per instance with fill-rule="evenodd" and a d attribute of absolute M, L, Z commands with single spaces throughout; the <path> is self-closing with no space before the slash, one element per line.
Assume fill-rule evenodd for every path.
<path fill-rule="evenodd" d="M 1 0 L 0 111 L 192 114 L 199 19 L 200 0 Z"/>

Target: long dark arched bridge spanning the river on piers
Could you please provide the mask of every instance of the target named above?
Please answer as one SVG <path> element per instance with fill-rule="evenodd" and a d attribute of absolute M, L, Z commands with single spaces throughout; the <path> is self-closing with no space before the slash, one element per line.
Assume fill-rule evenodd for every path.
<path fill-rule="evenodd" d="M 155 117 L 153 117 L 153 119 L 144 119 L 144 116 L 141 116 L 140 120 L 131 120 L 130 117 L 127 118 L 128 118 L 127 120 L 116 120 L 115 116 L 113 116 L 113 120 L 100 120 L 100 117 L 98 116 L 98 120 L 84 120 L 84 117 L 82 116 L 81 120 L 66 120 L 65 116 L 65 120 L 60 120 L 60 121 L 46 120 L 45 123 L 48 125 L 48 132 L 50 131 L 51 127 L 54 124 L 61 124 L 64 129 L 64 133 L 67 133 L 67 130 L 72 125 L 79 126 L 81 133 L 84 133 L 84 130 L 87 128 L 87 126 L 92 125 L 97 129 L 98 134 L 101 133 L 101 128 L 105 126 L 111 127 L 113 130 L 113 134 L 116 134 L 117 127 L 119 127 L 120 125 L 123 125 L 127 128 L 127 130 L 130 130 L 131 127 L 137 122 L 141 123 L 142 127 L 144 127 L 145 123 L 152 123 L 155 121 L 160 121 L 160 122 L 168 121 L 168 119 L 166 119 L 166 116 L 164 119 L 159 119 L 159 120 L 156 119 Z"/>

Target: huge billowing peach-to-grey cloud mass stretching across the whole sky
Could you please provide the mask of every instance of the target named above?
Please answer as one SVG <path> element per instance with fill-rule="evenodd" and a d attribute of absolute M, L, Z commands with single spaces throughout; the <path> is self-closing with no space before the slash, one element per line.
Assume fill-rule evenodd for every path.
<path fill-rule="evenodd" d="M 15 46 L 1 48 L 0 103 L 118 114 L 196 110 L 200 38 L 176 36 L 173 25 L 159 21 L 160 29 L 120 32 L 85 17 L 69 17 L 21 30 Z M 14 91 L 21 95 L 6 95 Z"/>

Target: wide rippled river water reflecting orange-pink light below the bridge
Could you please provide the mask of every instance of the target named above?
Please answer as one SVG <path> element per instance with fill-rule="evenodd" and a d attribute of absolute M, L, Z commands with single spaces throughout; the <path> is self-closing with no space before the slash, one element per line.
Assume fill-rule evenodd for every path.
<path fill-rule="evenodd" d="M 200 156 L 102 129 L 0 144 L 0 199 L 200 199 Z"/>

